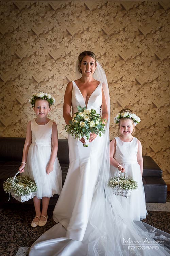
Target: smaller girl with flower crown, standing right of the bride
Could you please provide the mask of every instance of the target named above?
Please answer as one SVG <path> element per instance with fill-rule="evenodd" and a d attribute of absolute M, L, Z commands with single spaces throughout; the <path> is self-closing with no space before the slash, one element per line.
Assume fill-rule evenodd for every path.
<path fill-rule="evenodd" d="M 130 109 L 122 109 L 114 118 L 119 124 L 119 137 L 115 137 L 110 144 L 110 163 L 112 176 L 118 176 L 119 171 L 125 172 L 129 178 L 138 183 L 128 197 L 117 196 L 131 221 L 146 218 L 145 191 L 142 182 L 143 158 L 141 142 L 132 136 L 135 126 L 140 122 L 136 114 Z"/>

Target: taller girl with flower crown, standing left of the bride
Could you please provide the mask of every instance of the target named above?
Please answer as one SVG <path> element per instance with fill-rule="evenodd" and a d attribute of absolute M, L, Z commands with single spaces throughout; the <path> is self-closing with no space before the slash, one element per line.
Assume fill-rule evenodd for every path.
<path fill-rule="evenodd" d="M 32 227 L 44 226 L 47 223 L 47 209 L 50 197 L 60 194 L 62 189 L 62 172 L 57 158 L 58 134 L 57 125 L 47 115 L 55 99 L 47 93 L 34 94 L 30 100 L 37 118 L 27 125 L 26 142 L 20 173 L 30 176 L 37 185 L 33 198 L 35 217 Z M 40 210 L 40 199 L 43 199 L 43 209 Z"/>

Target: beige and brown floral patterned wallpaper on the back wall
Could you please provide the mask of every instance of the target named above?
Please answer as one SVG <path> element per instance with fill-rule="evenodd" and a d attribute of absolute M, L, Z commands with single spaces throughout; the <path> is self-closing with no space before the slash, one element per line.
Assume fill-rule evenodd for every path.
<path fill-rule="evenodd" d="M 50 118 L 67 138 L 64 91 L 80 52 L 94 51 L 105 69 L 113 117 L 124 107 L 140 116 L 135 136 L 170 184 L 170 1 L 1 1 L 0 132 L 25 137 L 34 118 L 28 99 L 54 95 Z"/>

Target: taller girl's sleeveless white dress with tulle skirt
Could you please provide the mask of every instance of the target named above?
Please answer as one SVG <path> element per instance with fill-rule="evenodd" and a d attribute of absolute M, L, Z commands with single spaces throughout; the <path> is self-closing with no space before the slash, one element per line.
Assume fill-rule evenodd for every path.
<path fill-rule="evenodd" d="M 60 194 L 62 189 L 62 172 L 58 158 L 54 162 L 54 169 L 47 174 L 46 167 L 51 156 L 51 136 L 53 121 L 45 125 L 38 125 L 31 121 L 32 143 L 28 150 L 27 165 L 23 175 L 30 176 L 37 185 L 35 196 L 38 199 Z"/>

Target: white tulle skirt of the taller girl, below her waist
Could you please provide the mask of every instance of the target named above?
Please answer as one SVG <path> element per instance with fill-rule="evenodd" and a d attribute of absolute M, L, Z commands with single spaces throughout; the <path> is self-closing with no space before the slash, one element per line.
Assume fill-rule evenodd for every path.
<path fill-rule="evenodd" d="M 23 175 L 30 176 L 37 185 L 35 196 L 38 199 L 60 195 L 62 189 L 62 171 L 58 158 L 54 162 L 54 169 L 49 175 L 46 167 L 51 156 L 51 145 L 30 145 L 27 165 Z"/>

